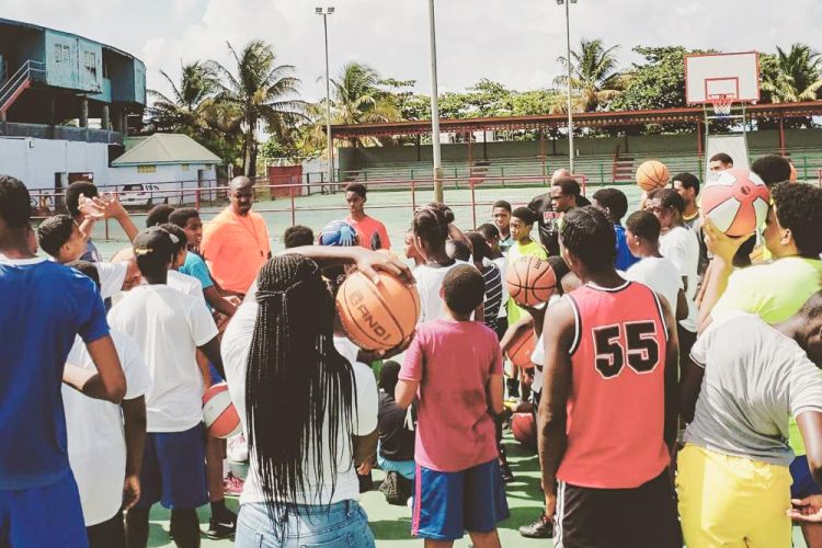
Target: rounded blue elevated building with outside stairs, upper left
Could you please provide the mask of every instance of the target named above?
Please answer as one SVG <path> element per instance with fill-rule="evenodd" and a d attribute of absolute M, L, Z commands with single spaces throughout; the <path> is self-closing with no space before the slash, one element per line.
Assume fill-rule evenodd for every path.
<path fill-rule="evenodd" d="M 129 119 L 139 124 L 145 106 L 146 66 L 133 55 L 76 34 L 0 19 L 2 135 L 122 142 Z M 60 127 L 79 119 L 88 128 L 89 118 L 99 118 L 100 134 L 106 135 L 87 130 L 72 138 L 69 128 Z M 32 125 L 45 126 L 45 134 Z"/>

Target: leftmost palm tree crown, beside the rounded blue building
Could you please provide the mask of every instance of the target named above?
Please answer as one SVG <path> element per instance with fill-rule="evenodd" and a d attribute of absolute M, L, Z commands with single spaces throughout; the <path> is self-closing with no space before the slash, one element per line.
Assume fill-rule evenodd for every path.
<path fill-rule="evenodd" d="M 214 68 L 201 61 L 183 65 L 179 83 L 162 70 L 160 75 L 171 87 L 171 94 L 148 90 L 148 95 L 153 99 L 148 109 L 149 124 L 155 130 L 190 136 L 208 132 L 214 96 L 219 89 Z"/>

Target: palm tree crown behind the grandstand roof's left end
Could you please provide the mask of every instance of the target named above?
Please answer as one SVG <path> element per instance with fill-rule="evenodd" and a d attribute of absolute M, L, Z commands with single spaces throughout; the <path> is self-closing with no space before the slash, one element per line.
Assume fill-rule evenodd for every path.
<path fill-rule="evenodd" d="M 373 68 L 359 62 L 349 62 L 338 79 L 331 79 L 333 87 L 332 107 L 336 124 L 368 124 L 396 122 L 401 118 L 393 96 L 381 90 L 379 75 Z M 350 139 L 356 147 L 359 139 Z"/>

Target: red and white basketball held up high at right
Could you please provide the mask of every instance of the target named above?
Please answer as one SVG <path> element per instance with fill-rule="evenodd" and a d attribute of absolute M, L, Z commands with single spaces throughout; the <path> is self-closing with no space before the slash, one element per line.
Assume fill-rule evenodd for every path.
<path fill-rule="evenodd" d="M 747 236 L 768 214 L 770 193 L 756 173 L 735 168 L 713 175 L 701 192 L 705 215 L 728 236 Z"/>

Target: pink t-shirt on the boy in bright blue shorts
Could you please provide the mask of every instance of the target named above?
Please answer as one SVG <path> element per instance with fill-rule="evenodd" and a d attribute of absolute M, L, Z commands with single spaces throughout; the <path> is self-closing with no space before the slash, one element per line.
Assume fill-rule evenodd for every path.
<path fill-rule="evenodd" d="M 418 326 L 400 379 L 419 380 L 414 460 L 444 472 L 498 456 L 488 379 L 502 375 L 496 334 L 476 321 L 450 318 Z"/>

